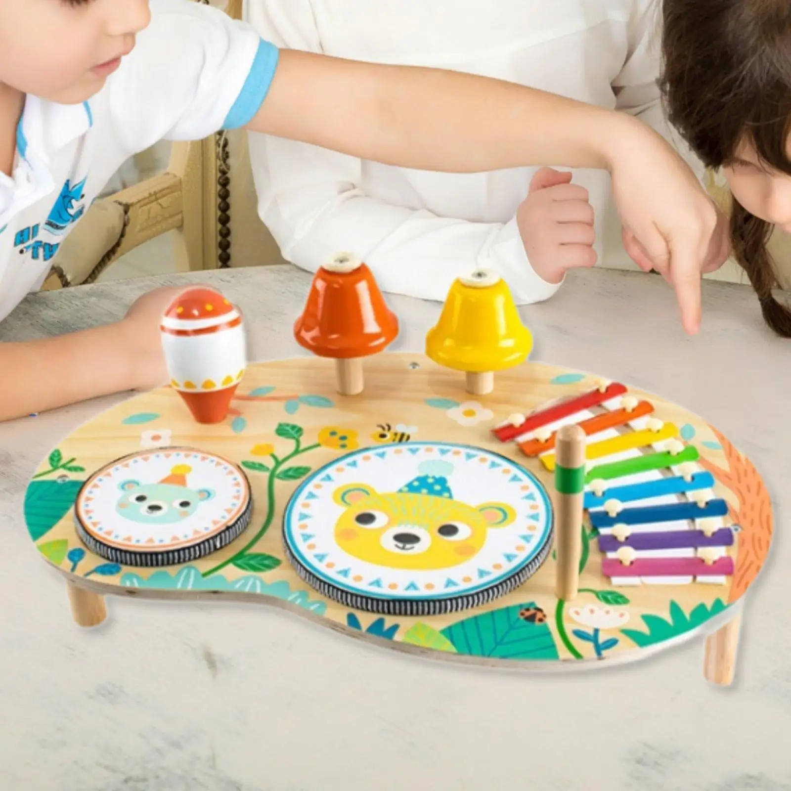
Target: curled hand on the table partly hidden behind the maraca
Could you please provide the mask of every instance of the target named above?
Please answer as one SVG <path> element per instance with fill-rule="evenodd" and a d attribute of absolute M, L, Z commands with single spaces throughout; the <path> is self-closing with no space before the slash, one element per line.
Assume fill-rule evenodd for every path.
<path fill-rule="evenodd" d="M 136 390 L 151 390 L 168 381 L 159 325 L 165 308 L 184 290 L 165 286 L 149 291 L 134 302 L 121 320 Z"/>

